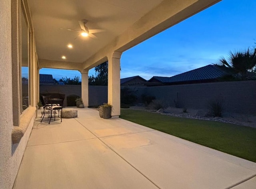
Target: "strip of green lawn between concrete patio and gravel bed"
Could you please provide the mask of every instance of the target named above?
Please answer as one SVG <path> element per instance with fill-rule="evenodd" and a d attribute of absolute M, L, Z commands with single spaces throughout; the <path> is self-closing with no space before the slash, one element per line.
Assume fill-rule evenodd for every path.
<path fill-rule="evenodd" d="M 256 162 L 256 128 L 121 109 L 122 119 Z"/>

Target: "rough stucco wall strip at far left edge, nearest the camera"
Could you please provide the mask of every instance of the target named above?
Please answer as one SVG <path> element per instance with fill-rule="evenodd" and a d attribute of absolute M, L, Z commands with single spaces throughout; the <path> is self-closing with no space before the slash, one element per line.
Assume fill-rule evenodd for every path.
<path fill-rule="evenodd" d="M 0 1 L 0 188 L 9 189 L 12 158 L 11 0 Z"/>

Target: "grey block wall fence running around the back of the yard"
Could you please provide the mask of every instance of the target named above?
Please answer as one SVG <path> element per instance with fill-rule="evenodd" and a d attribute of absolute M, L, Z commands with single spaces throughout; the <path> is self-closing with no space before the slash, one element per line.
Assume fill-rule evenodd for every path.
<path fill-rule="evenodd" d="M 153 95 L 163 99 L 172 107 L 178 100 L 182 107 L 206 109 L 208 101 L 223 97 L 226 111 L 256 114 L 256 81 L 218 82 L 158 87 L 129 87 L 141 102 L 141 95 Z M 63 93 L 81 96 L 81 86 L 41 85 L 40 93 Z M 89 105 L 100 105 L 108 101 L 107 86 L 89 86 Z M 64 106 L 66 105 L 66 98 Z"/>

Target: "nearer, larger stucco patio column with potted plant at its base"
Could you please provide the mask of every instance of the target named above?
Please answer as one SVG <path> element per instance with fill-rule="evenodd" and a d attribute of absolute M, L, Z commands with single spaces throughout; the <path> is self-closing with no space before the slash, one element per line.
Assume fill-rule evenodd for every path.
<path fill-rule="evenodd" d="M 112 118 L 120 115 L 120 58 L 121 52 L 108 54 L 108 103 L 112 107 Z"/>

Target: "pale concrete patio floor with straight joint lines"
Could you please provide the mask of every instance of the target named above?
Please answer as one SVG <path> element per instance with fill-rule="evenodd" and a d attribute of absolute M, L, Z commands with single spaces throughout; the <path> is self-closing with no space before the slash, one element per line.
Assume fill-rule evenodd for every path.
<path fill-rule="evenodd" d="M 14 189 L 255 189 L 256 163 L 95 109 L 37 118 Z"/>

